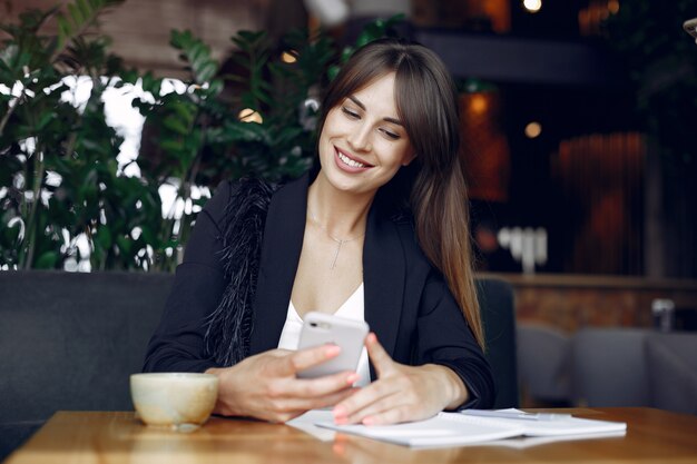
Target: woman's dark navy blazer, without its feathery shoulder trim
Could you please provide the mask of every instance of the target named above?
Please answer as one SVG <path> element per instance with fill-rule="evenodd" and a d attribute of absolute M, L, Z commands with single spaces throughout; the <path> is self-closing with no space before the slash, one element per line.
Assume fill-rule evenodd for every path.
<path fill-rule="evenodd" d="M 272 198 L 251 354 L 278 345 L 303 245 L 308 184 L 305 175 Z M 229 196 L 229 184 L 223 184 L 198 216 L 163 320 L 148 346 L 145 371 L 203 372 L 216 366 L 205 355 L 203 320 L 216 308 L 227 285 L 219 250 Z M 468 385 L 468 407 L 490 407 L 495 396 L 491 368 L 442 276 L 419 247 L 411 223 L 386 219 L 376 207 L 371 208 L 363 278 L 365 320 L 393 359 L 448 366 Z M 375 378 L 372 366 L 371 377 Z"/>

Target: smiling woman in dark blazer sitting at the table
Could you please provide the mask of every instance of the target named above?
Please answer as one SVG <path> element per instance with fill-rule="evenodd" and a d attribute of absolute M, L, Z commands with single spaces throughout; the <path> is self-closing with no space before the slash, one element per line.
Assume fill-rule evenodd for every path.
<path fill-rule="evenodd" d="M 327 406 L 340 424 L 490 407 L 450 75 L 422 46 L 375 41 L 323 110 L 318 171 L 223 184 L 198 216 L 145 369 L 216 374 L 216 413 L 275 422 Z M 337 355 L 293 351 L 310 310 L 364 318 L 372 366 L 297 378 Z"/>

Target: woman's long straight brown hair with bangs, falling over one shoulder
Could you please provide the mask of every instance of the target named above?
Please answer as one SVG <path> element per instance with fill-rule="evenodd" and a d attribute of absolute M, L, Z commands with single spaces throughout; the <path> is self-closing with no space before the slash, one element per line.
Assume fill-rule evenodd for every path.
<path fill-rule="evenodd" d="M 320 132 L 332 108 L 389 72 L 395 73 L 396 108 L 416 158 L 383 189 L 403 185 L 397 178 L 408 175 L 402 171 L 412 170 L 409 187 L 401 188 L 401 195 L 413 211 L 419 244 L 444 275 L 483 347 L 467 187 L 459 156 L 458 91 L 441 59 L 423 46 L 395 39 L 376 40 L 359 49 L 327 89 Z"/>

